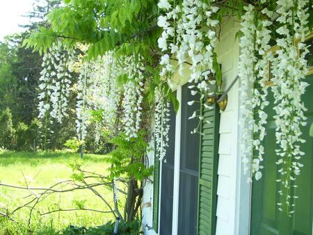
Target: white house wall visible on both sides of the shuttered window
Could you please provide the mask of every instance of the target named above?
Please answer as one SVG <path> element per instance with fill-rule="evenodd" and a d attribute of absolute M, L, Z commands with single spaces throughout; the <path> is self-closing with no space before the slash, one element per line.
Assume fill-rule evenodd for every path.
<path fill-rule="evenodd" d="M 220 32 L 220 42 L 216 45 L 218 63 L 222 65 L 223 90 L 236 78 L 238 74 L 239 43 L 234 40 L 237 23 L 227 19 Z M 175 85 L 184 85 L 188 81 L 188 70 L 184 70 L 185 76 L 178 75 L 173 79 Z M 218 202 L 216 211 L 216 235 L 238 234 L 239 209 L 236 202 L 238 194 L 239 178 L 241 172 L 236 169 L 240 166 L 238 156 L 238 118 L 239 118 L 239 90 L 238 81 L 228 92 L 228 104 L 224 112 L 220 113 L 220 145 L 218 147 Z M 154 154 L 149 154 L 150 164 L 154 163 Z M 155 234 L 152 227 L 152 184 L 147 184 L 143 193 L 143 226 L 145 234 Z M 248 203 L 248 202 L 247 202 Z M 162 234 L 160 234 L 162 235 Z M 174 235 L 174 234 L 173 234 Z M 241 233 L 240 235 L 246 235 Z"/>

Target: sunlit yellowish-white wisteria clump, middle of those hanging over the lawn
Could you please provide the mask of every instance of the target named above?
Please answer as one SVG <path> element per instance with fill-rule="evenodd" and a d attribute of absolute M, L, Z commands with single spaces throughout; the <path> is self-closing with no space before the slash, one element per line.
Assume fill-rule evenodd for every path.
<path fill-rule="evenodd" d="M 113 126 L 122 89 L 116 83 L 121 67 L 113 52 L 109 51 L 95 61 L 81 64 L 77 90 L 77 133 L 83 140 L 86 138 L 90 124 L 91 111 L 102 111 L 103 121 L 97 123 L 95 138 L 99 140 L 102 126 Z"/>

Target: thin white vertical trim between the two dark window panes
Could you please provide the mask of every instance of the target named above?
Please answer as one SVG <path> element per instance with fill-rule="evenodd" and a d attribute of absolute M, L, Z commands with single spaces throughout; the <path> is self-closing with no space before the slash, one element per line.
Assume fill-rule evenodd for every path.
<path fill-rule="evenodd" d="M 172 205 L 172 235 L 178 232 L 178 209 L 179 209 L 179 168 L 180 168 L 180 135 L 182 123 L 182 86 L 177 86 L 177 100 L 179 108 L 175 123 L 175 161 L 174 161 L 174 188 Z"/>

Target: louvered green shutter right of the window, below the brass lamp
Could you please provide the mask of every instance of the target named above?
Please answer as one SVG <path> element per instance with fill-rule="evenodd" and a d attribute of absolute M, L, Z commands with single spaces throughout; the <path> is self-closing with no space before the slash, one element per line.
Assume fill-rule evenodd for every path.
<path fill-rule="evenodd" d="M 217 105 L 212 110 L 203 108 L 202 112 L 201 130 L 205 135 L 200 137 L 198 234 L 215 235 L 220 112 Z"/>

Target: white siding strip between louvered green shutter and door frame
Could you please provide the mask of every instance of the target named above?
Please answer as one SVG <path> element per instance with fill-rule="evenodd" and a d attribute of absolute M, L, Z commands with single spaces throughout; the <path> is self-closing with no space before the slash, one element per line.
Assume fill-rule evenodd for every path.
<path fill-rule="evenodd" d="M 218 63 L 222 65 L 223 90 L 230 85 L 238 73 L 239 44 L 234 40 L 236 30 L 238 29 L 235 29 L 235 22 L 227 20 L 220 34 L 220 42 L 216 46 Z M 216 235 L 236 234 L 236 165 L 239 158 L 237 156 L 238 100 L 237 81 L 228 92 L 225 112 L 220 113 Z"/>

